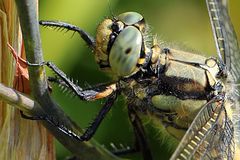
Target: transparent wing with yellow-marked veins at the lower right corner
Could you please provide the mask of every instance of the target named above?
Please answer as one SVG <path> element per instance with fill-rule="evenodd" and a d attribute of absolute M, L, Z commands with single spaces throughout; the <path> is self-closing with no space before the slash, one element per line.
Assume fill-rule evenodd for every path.
<path fill-rule="evenodd" d="M 217 96 L 203 106 L 171 160 L 233 159 L 234 129 L 223 101 Z"/>

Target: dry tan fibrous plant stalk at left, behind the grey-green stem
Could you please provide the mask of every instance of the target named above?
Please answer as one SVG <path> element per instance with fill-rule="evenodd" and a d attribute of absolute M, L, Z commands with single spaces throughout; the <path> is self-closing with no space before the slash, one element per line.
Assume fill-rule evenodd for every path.
<path fill-rule="evenodd" d="M 19 72 L 7 43 L 25 57 L 14 0 L 0 0 L 0 82 L 30 94 L 29 81 Z M 0 159 L 55 159 L 52 135 L 40 122 L 22 119 L 18 109 L 7 105 L 0 101 Z"/>

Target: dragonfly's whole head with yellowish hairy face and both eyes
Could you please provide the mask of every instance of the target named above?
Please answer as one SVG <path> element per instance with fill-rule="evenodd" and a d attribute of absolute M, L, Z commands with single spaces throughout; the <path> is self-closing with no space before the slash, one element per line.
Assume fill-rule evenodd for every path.
<path fill-rule="evenodd" d="M 143 63 L 144 32 L 144 18 L 136 12 L 122 13 L 100 23 L 95 48 L 95 59 L 100 68 L 119 77 L 136 73 Z"/>

